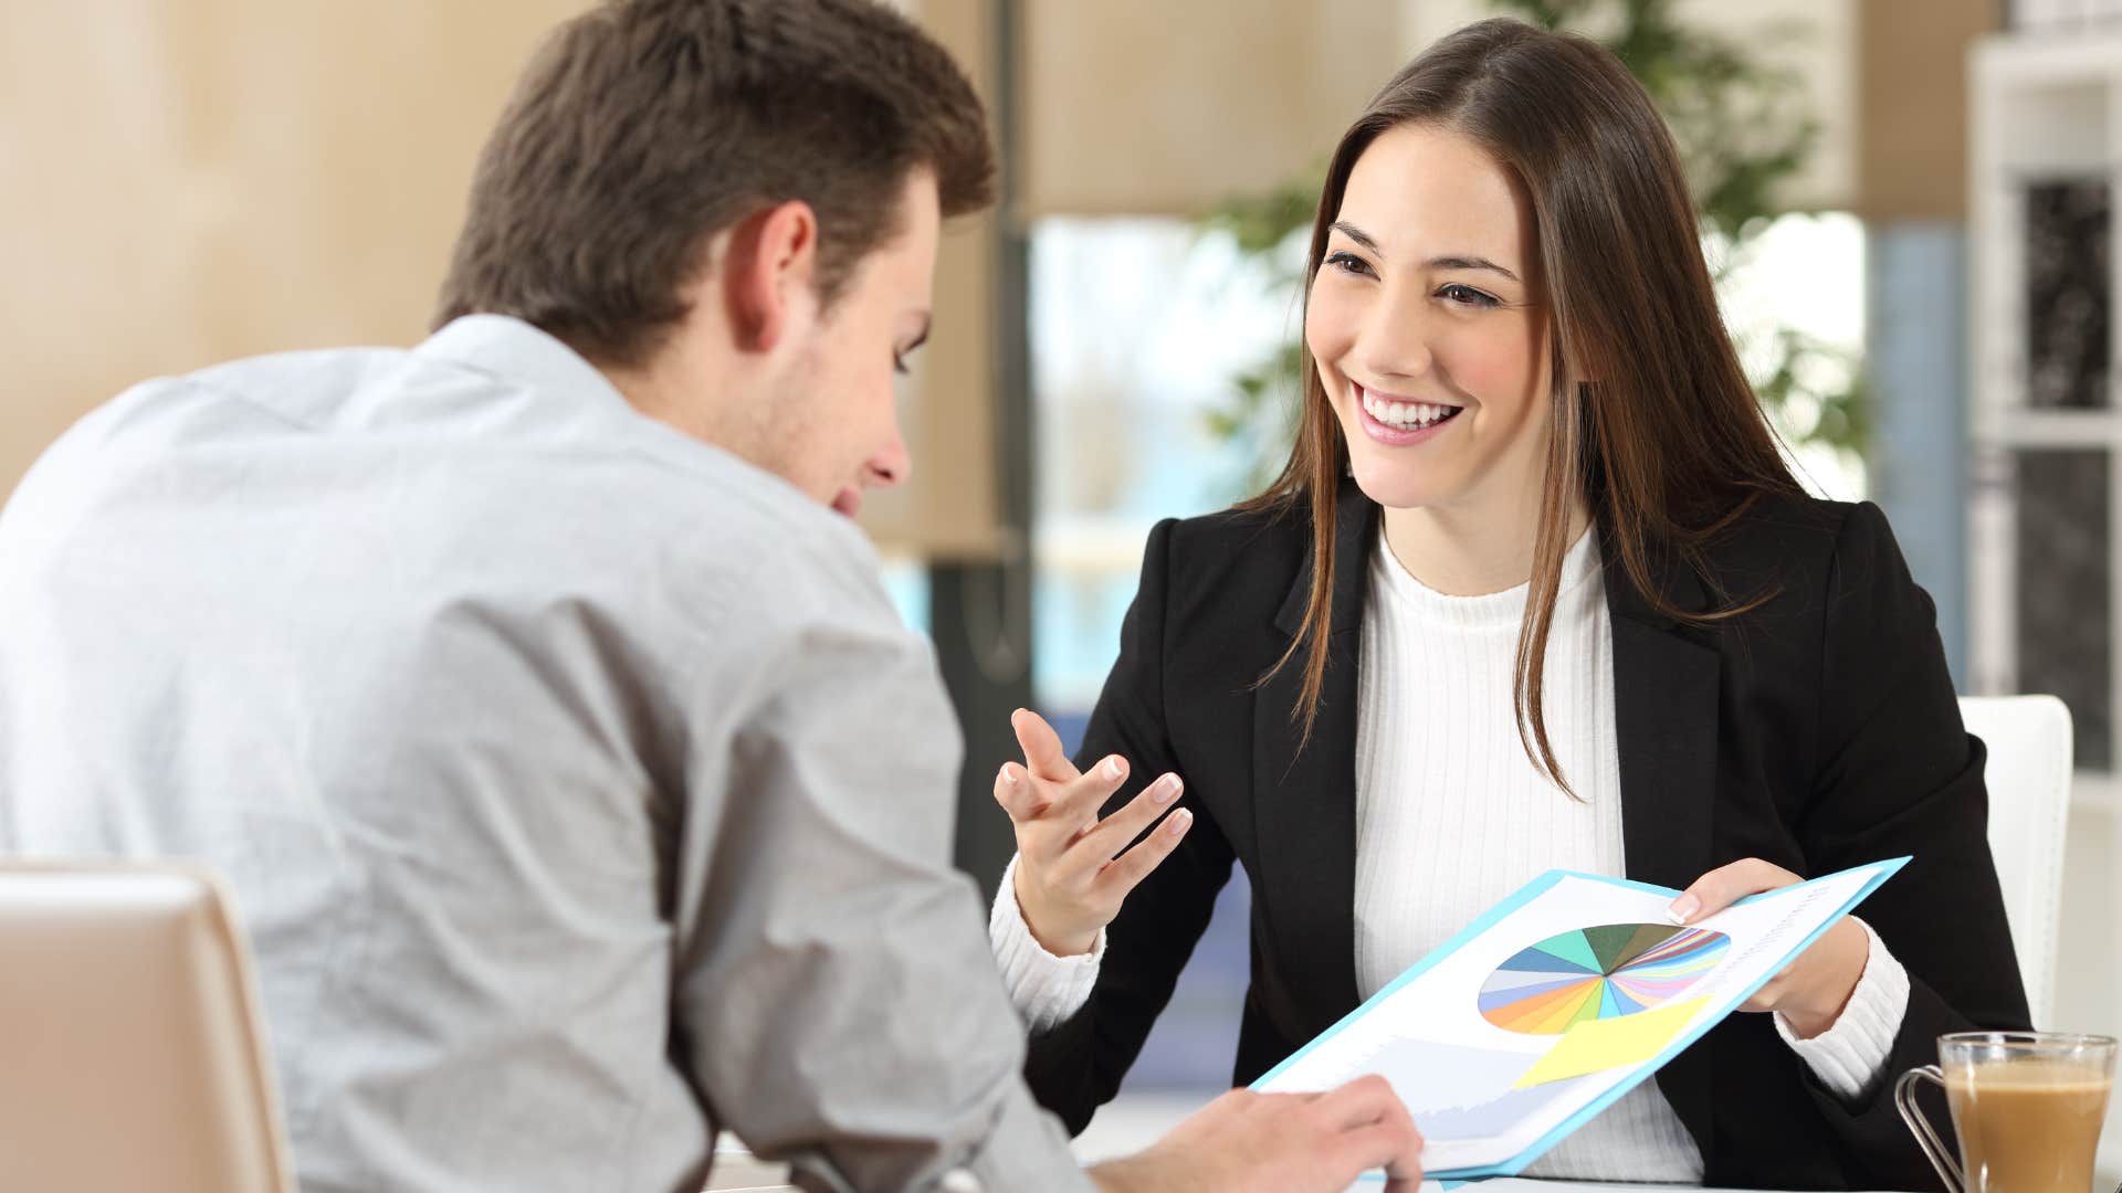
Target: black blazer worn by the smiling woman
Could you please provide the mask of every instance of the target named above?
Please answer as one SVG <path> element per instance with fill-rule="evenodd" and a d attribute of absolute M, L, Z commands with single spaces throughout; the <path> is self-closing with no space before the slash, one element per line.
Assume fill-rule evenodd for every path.
<path fill-rule="evenodd" d="M 1080 764 L 1176 771 L 1195 826 L 1112 923 L 1089 1004 L 1031 1040 L 1025 1076 L 1080 1131 L 1133 1064 L 1231 864 L 1252 881 L 1252 985 L 1233 1083 L 1246 1085 L 1356 1008 L 1356 660 L 1377 507 L 1343 484 L 1324 698 L 1311 745 L 1290 709 L 1311 582 L 1309 516 L 1161 522 L 1120 658 Z M 1740 858 L 1799 875 L 1912 853 L 1859 915 L 1908 968 L 1886 1080 L 1844 1106 L 1776 1036 L 1734 1015 L 1657 1074 L 1710 1185 L 1931 1189 L 1893 1108 L 1893 1076 L 1935 1038 L 2027 1027 L 1990 862 L 1984 749 L 1961 726 L 1931 599 L 1876 505 L 1763 499 L 1708 550 L 1708 573 L 1761 607 L 1702 628 L 1651 611 L 1606 554 L 1628 877 L 1685 887 Z M 1723 605 L 1659 565 L 1681 609 Z M 1555 798 L 1562 798 L 1560 794 Z M 1417 1123 L 1420 1127 L 1420 1123 Z"/>

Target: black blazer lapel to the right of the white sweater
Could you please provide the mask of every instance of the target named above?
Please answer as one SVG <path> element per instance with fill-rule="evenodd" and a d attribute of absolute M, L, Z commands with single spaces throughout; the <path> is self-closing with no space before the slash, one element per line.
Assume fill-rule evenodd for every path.
<path fill-rule="evenodd" d="M 1621 751 L 1621 841 L 1628 877 L 1687 887 L 1715 855 L 1719 656 L 1691 641 L 1636 592 L 1617 552 L 1606 552 L 1613 620 L 1613 705 Z M 1653 569 L 1668 601 L 1708 607 L 1702 582 L 1676 560 Z M 1657 1074 L 1702 1155 L 1710 1153 L 1710 1051 L 1693 1047 Z"/>

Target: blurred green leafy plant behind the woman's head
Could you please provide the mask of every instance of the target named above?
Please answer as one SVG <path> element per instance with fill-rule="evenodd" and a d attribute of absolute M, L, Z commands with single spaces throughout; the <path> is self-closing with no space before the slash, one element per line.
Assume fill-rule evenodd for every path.
<path fill-rule="evenodd" d="M 1804 83 L 1759 62 L 1746 47 L 1681 21 L 1672 0 L 1490 0 L 1500 13 L 1549 30 L 1598 28 L 1598 40 L 1642 83 L 1681 146 L 1702 234 L 1719 250 L 1710 267 L 1723 284 L 1742 267 L 1768 225 L 1789 214 L 1778 197 L 1819 144 Z M 1785 30 L 1785 36 L 1802 36 Z M 1231 200 L 1201 227 L 1233 236 L 1237 248 L 1267 261 L 1275 284 L 1303 284 L 1301 234 L 1311 227 L 1324 168 L 1267 195 Z M 1819 444 L 1863 456 L 1869 401 L 1861 361 L 1793 327 L 1770 327 L 1749 344 L 1755 393 L 1791 444 Z M 1252 467 L 1241 480 L 1258 490 L 1280 471 L 1294 433 L 1299 342 L 1277 344 L 1233 378 L 1210 427 L 1250 439 Z"/>

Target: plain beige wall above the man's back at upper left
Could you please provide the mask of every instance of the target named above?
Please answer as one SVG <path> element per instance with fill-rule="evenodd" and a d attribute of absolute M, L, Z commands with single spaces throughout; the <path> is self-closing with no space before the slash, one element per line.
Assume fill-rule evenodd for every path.
<path fill-rule="evenodd" d="M 418 340 L 484 132 L 584 4 L 0 4 L 0 492 L 140 378 Z"/>

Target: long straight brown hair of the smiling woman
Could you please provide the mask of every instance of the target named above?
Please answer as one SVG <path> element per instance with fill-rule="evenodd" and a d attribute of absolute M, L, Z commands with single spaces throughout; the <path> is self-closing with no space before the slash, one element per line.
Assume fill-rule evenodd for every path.
<path fill-rule="evenodd" d="M 1704 571 L 1702 548 L 1757 497 L 1795 495 L 1799 486 L 1725 335 L 1666 121 L 1613 53 L 1502 17 L 1434 42 L 1386 83 L 1335 146 L 1311 223 L 1307 278 L 1318 276 L 1356 159 L 1379 134 L 1407 123 L 1471 138 L 1532 197 L 1553 335 L 1553 408 L 1511 705 L 1526 756 L 1570 792 L 1547 739 L 1541 688 L 1575 499 L 1585 499 L 1602 548 L 1619 554 L 1645 603 L 1700 624 L 1759 599 L 1708 613 L 1679 609 L 1653 582 L 1653 556 L 1664 552 Z M 1305 622 L 1269 671 L 1307 652 L 1290 709 L 1303 743 L 1311 741 L 1326 681 L 1335 507 L 1345 473 L 1347 444 L 1307 344 L 1290 463 L 1241 505 L 1311 512 Z M 1710 584 L 1717 588 L 1715 577 Z"/>

